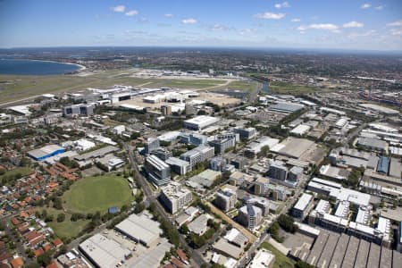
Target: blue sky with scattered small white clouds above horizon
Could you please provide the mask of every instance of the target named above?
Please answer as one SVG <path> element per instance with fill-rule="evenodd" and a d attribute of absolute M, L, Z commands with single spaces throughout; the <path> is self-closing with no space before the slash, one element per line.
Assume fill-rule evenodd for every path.
<path fill-rule="evenodd" d="M 401 0 L 0 0 L 0 47 L 402 51 Z"/>

